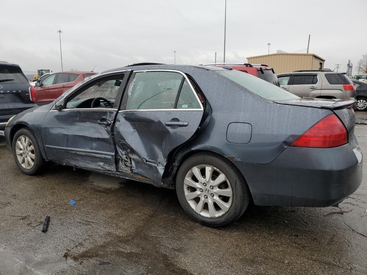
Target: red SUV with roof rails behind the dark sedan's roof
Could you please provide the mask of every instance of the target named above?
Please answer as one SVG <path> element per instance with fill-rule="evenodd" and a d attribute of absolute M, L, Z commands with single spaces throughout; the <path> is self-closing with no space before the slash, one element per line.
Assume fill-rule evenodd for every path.
<path fill-rule="evenodd" d="M 211 63 L 211 64 L 203 64 L 203 66 L 213 66 L 221 68 L 231 67 L 234 70 L 252 74 L 253 76 L 259 77 L 265 81 L 268 81 L 274 85 L 279 86 L 279 81 L 273 68 L 270 68 L 268 65 L 249 64 L 249 63 Z"/>

